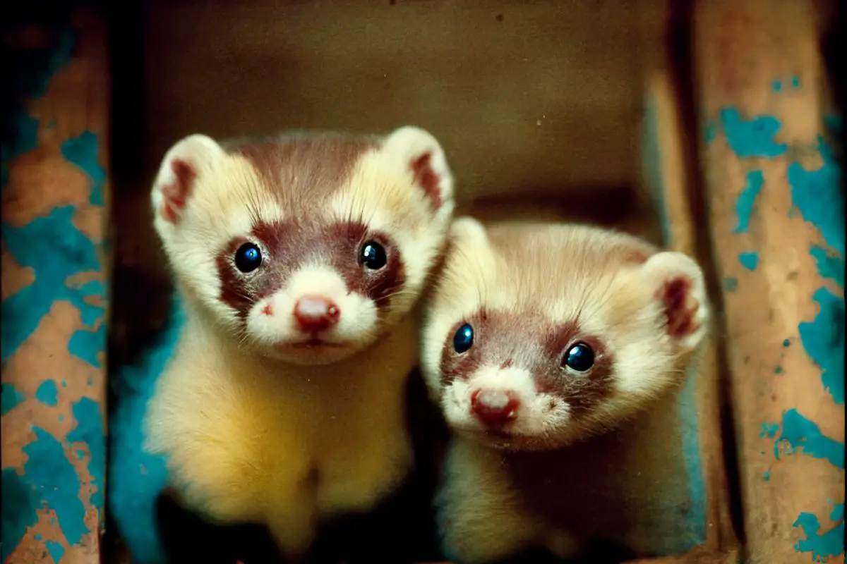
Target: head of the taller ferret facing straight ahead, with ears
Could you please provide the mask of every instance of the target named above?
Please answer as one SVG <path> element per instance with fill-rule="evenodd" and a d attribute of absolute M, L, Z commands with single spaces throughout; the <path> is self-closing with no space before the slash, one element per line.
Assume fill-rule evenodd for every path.
<path fill-rule="evenodd" d="M 242 346 L 329 364 L 412 308 L 453 209 L 444 151 L 423 129 L 292 134 L 164 156 L 155 227 L 180 290 Z"/>

